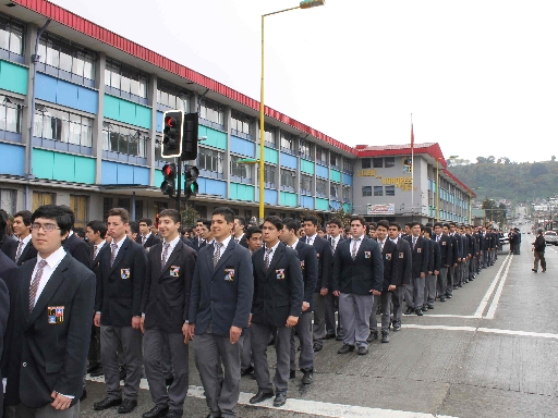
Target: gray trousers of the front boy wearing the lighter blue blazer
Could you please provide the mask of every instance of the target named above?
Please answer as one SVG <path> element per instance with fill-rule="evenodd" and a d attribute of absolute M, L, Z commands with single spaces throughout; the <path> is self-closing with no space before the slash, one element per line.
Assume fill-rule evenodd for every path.
<path fill-rule="evenodd" d="M 206 331 L 196 335 L 194 341 L 194 359 L 210 415 L 235 417 L 240 395 L 240 354 L 244 336 L 231 344 L 229 335 L 216 335 Z M 218 377 L 219 359 L 225 368 L 222 386 Z"/>

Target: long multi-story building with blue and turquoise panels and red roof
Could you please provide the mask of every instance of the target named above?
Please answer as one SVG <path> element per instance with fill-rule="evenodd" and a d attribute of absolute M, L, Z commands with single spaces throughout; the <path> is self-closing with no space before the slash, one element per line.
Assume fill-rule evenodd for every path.
<path fill-rule="evenodd" d="M 116 206 L 135 219 L 173 207 L 159 190 L 167 162 L 160 156 L 162 113 L 170 109 L 198 112 L 199 136 L 206 137 L 196 161 L 195 209 L 205 217 L 226 204 L 240 216 L 256 216 L 257 167 L 236 161 L 259 157 L 258 101 L 48 1 L 0 5 L 2 209 L 69 205 L 83 225 Z M 265 113 L 266 214 L 296 217 L 310 209 L 327 219 L 340 208 L 365 214 L 368 204 L 409 205 L 398 184 L 395 195 L 383 185 L 387 196 L 364 195 L 368 175 L 355 176 L 353 186 L 355 170 L 374 169 L 378 150 L 350 147 L 270 108 Z M 435 217 L 436 156 L 415 156 L 415 201 L 426 205 L 425 219 Z M 470 190 L 444 173 L 440 192 L 449 200 L 440 194 L 440 217 L 465 219 L 466 210 L 458 211 L 451 199 L 466 200 Z"/>

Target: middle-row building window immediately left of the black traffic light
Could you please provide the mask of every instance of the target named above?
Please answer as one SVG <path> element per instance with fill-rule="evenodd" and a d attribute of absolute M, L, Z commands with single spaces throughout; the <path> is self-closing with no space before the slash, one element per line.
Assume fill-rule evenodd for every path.
<path fill-rule="evenodd" d="M 145 158 L 148 139 L 146 132 L 108 122 L 102 123 L 102 149 L 106 151 Z"/>

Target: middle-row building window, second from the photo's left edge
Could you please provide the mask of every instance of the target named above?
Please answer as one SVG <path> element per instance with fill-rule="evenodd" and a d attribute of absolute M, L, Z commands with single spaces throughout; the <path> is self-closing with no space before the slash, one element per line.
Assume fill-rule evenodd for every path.
<path fill-rule="evenodd" d="M 37 104 L 33 135 L 61 143 L 93 146 L 93 119 Z"/>

